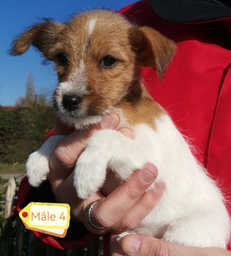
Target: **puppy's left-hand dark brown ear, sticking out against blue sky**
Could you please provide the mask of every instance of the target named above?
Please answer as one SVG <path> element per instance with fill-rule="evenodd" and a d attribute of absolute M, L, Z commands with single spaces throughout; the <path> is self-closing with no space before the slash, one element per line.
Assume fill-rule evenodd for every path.
<path fill-rule="evenodd" d="M 64 24 L 54 23 L 46 20 L 44 23 L 34 25 L 29 30 L 20 35 L 12 42 L 9 51 L 10 55 L 21 55 L 26 52 L 31 45 L 34 45 L 41 51 L 47 59 L 49 51 L 57 42 L 60 32 L 64 29 Z"/>

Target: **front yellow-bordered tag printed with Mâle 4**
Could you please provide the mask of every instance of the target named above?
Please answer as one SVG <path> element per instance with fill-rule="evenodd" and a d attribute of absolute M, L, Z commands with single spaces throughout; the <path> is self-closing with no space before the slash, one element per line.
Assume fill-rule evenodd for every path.
<path fill-rule="evenodd" d="M 30 229 L 67 229 L 70 223 L 70 206 L 31 202 L 22 209 L 19 216 Z"/>

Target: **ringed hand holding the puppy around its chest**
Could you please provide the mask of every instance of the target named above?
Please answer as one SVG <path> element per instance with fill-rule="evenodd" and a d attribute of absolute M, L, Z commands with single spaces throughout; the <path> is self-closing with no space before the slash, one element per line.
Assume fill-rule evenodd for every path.
<path fill-rule="evenodd" d="M 156 167 L 147 164 L 144 170 L 134 172 L 128 181 L 120 185 L 108 197 L 104 197 L 101 192 L 97 192 L 86 200 L 77 197 L 73 186 L 73 169 L 77 158 L 86 148 L 88 138 L 99 129 L 115 129 L 118 123 L 118 115 L 112 113 L 104 118 L 100 126 L 92 126 L 87 131 L 74 131 L 61 140 L 50 159 L 48 179 L 56 200 L 68 203 L 71 207 L 72 219 L 84 223 L 88 230 L 97 234 L 124 231 L 135 227 L 150 212 L 161 196 L 161 192 L 156 190 L 145 192 L 157 177 Z M 58 124 L 57 127 L 59 128 L 57 134 L 71 132 L 62 124 Z M 122 128 L 118 131 L 133 138 L 133 133 L 129 129 Z M 110 175 L 108 179 L 110 180 Z M 163 187 L 163 184 L 159 184 L 156 189 L 159 188 L 158 191 L 160 191 Z M 97 199 L 100 201 L 93 207 L 91 218 L 96 225 L 105 226 L 106 229 L 103 230 L 93 229 L 84 218 L 86 207 Z"/>

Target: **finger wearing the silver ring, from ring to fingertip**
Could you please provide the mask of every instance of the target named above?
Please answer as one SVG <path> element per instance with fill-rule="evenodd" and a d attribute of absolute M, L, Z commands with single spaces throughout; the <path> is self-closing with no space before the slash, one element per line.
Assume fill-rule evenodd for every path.
<path fill-rule="evenodd" d="M 150 163 L 135 171 L 128 181 L 96 204 L 91 213 L 93 222 L 98 226 L 113 226 L 133 207 L 156 177 L 157 168 Z"/>

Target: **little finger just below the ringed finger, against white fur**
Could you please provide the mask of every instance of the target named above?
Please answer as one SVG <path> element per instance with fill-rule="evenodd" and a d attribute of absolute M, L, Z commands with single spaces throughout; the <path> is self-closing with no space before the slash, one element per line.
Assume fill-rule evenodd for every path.
<path fill-rule="evenodd" d="M 120 222 L 116 224 L 118 226 L 117 229 L 120 231 L 134 229 L 157 205 L 164 189 L 165 183 L 159 181 L 154 188 L 145 192 Z"/>

